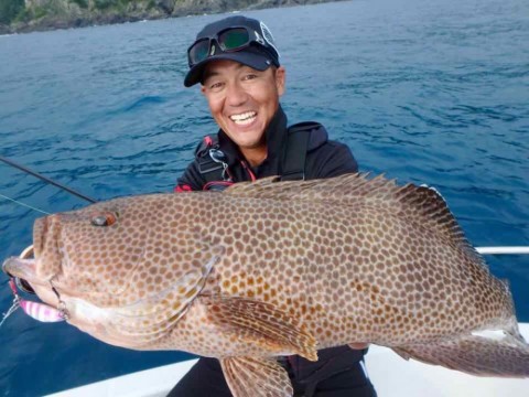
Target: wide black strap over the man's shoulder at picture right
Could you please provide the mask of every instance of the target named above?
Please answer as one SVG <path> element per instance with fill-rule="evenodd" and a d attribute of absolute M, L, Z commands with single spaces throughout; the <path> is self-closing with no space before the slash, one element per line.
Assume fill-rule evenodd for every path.
<path fill-rule="evenodd" d="M 319 122 L 305 121 L 289 127 L 287 149 L 282 161 L 281 181 L 305 179 L 305 159 L 311 131 L 321 128 Z"/>

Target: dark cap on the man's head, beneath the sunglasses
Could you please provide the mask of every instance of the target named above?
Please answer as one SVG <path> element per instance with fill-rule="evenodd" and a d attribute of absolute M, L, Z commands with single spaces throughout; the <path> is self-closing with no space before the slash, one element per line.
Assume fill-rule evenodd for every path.
<path fill-rule="evenodd" d="M 242 15 L 228 17 L 207 24 L 197 35 L 196 40 L 208 39 L 228 28 L 248 28 L 255 31 L 261 39 L 260 43 L 251 43 L 249 46 L 236 52 L 222 52 L 216 49 L 214 55 L 208 56 L 204 61 L 193 65 L 187 72 L 184 85 L 191 87 L 202 81 L 204 67 L 209 61 L 230 60 L 250 66 L 257 71 L 266 71 L 271 65 L 279 66 L 279 53 L 273 43 L 272 33 L 267 25 L 252 18 Z"/>

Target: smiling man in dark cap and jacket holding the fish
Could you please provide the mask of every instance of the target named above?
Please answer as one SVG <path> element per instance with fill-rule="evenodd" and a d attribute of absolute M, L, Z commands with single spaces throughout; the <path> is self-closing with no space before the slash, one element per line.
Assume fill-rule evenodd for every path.
<path fill-rule="evenodd" d="M 205 137 L 176 191 L 223 190 L 241 181 L 280 175 L 321 179 L 357 172 L 350 150 L 327 140 L 316 122 L 287 127 L 279 104 L 285 69 L 268 28 L 253 19 L 229 17 L 206 25 L 188 51 L 184 85 L 197 83 L 207 99 L 217 135 Z M 376 396 L 366 376 L 365 345 L 326 348 L 316 363 L 281 360 L 295 395 Z M 220 365 L 201 358 L 170 396 L 230 396 Z"/>

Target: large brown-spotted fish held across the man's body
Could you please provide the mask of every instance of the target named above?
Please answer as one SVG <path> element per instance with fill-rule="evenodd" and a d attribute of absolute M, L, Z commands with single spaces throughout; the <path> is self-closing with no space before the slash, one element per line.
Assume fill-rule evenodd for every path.
<path fill-rule="evenodd" d="M 33 238 L 35 259 L 4 270 L 71 324 L 115 345 L 218 357 L 237 397 L 292 395 L 276 356 L 356 343 L 529 377 L 507 285 L 428 187 L 267 179 L 95 204 L 37 219 Z"/>

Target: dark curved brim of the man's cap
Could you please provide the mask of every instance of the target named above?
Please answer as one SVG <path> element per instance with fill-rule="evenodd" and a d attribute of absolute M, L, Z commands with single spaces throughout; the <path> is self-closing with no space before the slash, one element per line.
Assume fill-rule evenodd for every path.
<path fill-rule="evenodd" d="M 206 65 L 212 62 L 212 61 L 218 61 L 218 60 L 228 60 L 228 61 L 235 61 L 238 63 L 241 63 L 246 66 L 250 66 L 251 68 L 255 68 L 256 71 L 266 71 L 269 68 L 273 62 L 270 60 L 270 57 L 266 56 L 264 54 L 261 53 L 253 53 L 253 52 L 248 52 L 248 51 L 238 51 L 238 52 L 233 52 L 233 53 L 220 53 L 218 55 L 213 55 L 204 61 L 197 63 L 195 66 L 193 66 L 190 72 L 187 72 L 187 75 L 184 78 L 184 86 L 191 87 L 195 85 L 196 83 L 202 82 L 202 75 L 204 74 L 204 68 Z"/>

